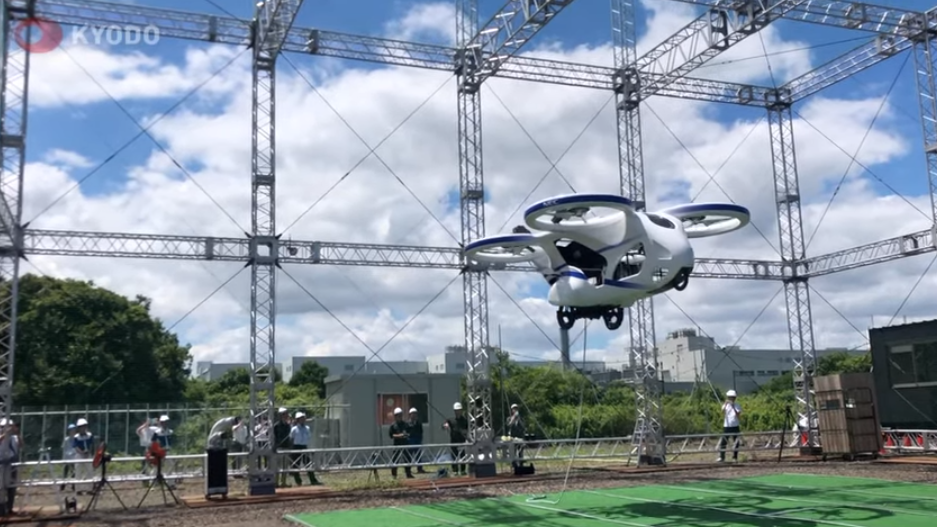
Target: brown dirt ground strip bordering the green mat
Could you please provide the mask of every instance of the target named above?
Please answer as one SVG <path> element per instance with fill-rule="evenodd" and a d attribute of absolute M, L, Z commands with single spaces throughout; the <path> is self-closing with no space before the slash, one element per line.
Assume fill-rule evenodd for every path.
<path fill-rule="evenodd" d="M 579 471 L 570 475 L 567 489 L 608 488 L 632 485 L 673 484 L 691 481 L 729 479 L 775 473 L 809 473 L 853 477 L 871 477 L 891 481 L 926 482 L 937 484 L 937 465 L 882 464 L 869 462 L 782 462 L 782 463 L 739 463 L 713 465 L 691 470 L 662 471 L 629 474 L 611 471 Z M 329 483 L 328 476 L 325 478 Z M 121 499 L 130 507 L 140 501 L 144 489 L 142 484 L 123 484 L 118 487 Z M 236 485 L 243 485 L 241 481 Z M 115 485 L 116 487 L 116 485 Z M 187 488 L 186 488 L 187 487 Z M 139 527 L 283 527 L 286 514 L 327 511 L 375 506 L 409 505 L 457 499 L 509 496 L 512 494 L 543 494 L 557 492 L 564 487 L 563 474 L 552 480 L 532 480 L 524 483 L 483 485 L 467 488 L 433 490 L 409 490 L 389 488 L 384 490 L 349 490 L 341 498 L 311 498 L 297 501 L 228 505 L 210 508 L 167 507 L 154 489 L 143 509 L 121 512 L 109 491 L 101 498 L 96 510 L 80 520 L 65 522 L 87 527 L 114 527 L 133 525 Z M 189 483 L 181 486 L 177 493 L 182 496 L 200 493 L 200 485 Z M 25 524 L 37 525 L 37 524 Z M 50 523 L 45 523 L 50 525 Z M 61 525 L 61 523 L 60 523 Z"/>

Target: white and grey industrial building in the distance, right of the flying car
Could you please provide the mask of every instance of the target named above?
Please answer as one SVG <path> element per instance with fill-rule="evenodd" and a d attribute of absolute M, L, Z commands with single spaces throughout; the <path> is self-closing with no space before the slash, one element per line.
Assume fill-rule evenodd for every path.
<path fill-rule="evenodd" d="M 828 348 L 816 350 L 816 357 L 836 352 L 861 355 L 867 350 Z M 719 347 L 695 329 L 681 329 L 658 344 L 658 361 L 665 382 L 712 383 L 741 393 L 752 392 L 773 377 L 794 369 L 800 350 L 741 349 Z"/>

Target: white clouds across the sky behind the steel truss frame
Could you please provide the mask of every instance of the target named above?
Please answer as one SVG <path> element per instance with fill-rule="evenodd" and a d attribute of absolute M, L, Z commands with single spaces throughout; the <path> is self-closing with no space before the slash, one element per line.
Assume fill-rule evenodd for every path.
<path fill-rule="evenodd" d="M 657 4 L 655 4 L 656 6 Z M 690 11 L 684 6 L 660 4 L 642 46 L 659 40 L 675 27 L 685 24 Z M 438 9 L 440 11 L 431 11 Z M 398 36 L 418 31 L 448 31 L 451 18 L 442 15 L 440 5 L 421 5 L 389 26 Z M 446 15 L 448 16 L 448 15 Z M 406 38 L 410 38 L 407 36 Z M 758 37 L 746 44 L 760 48 Z M 764 34 L 769 51 L 793 49 L 801 44 L 768 30 Z M 741 48 L 740 48 L 741 49 Z M 105 53 L 100 50 L 72 50 L 76 61 L 116 97 L 152 99 L 178 97 L 208 78 L 214 69 L 230 60 L 233 48 L 209 47 L 190 50 L 181 65 L 173 65 L 144 53 Z M 143 50 L 150 52 L 150 50 Z M 153 53 L 159 51 L 154 48 Z M 743 50 L 744 51 L 744 50 Z M 564 60 L 603 63 L 610 60 L 607 46 L 563 49 L 555 43 L 532 51 L 538 56 Z M 737 52 L 737 53 L 742 53 Z M 752 53 L 749 50 L 748 53 Z M 106 100 L 80 68 L 69 66 L 68 57 L 46 54 L 34 64 L 36 76 L 31 100 L 41 106 L 83 105 Z M 808 53 L 784 54 L 772 64 L 775 73 L 790 76 L 810 67 Z M 731 58 L 727 54 L 727 58 Z M 303 68 L 316 67 L 315 59 L 293 56 Z M 734 80 L 767 78 L 763 61 L 744 61 L 741 69 L 726 70 Z M 330 65 L 331 67 L 331 65 Z M 408 114 L 420 106 L 447 75 L 397 68 L 362 68 L 333 71 L 318 91 L 336 108 L 362 137 L 374 146 Z M 452 210 L 447 196 L 458 189 L 458 150 L 456 104 L 451 81 L 403 127 L 377 150 L 381 160 L 370 156 L 368 148 L 323 100 L 297 78 L 288 66 L 278 74 L 277 102 L 277 222 L 284 230 L 310 205 L 328 192 L 305 214 L 284 239 L 393 243 L 453 246 L 447 230 L 459 233 L 459 213 Z M 48 86 L 70 86 L 73 91 L 55 95 Z M 503 99 L 514 116 L 540 143 L 552 161 L 566 149 L 586 126 L 609 94 L 574 88 L 525 84 L 492 79 L 483 89 L 485 178 L 489 194 L 486 208 L 488 232 L 493 234 L 521 219 L 512 214 L 518 205 L 569 191 L 553 173 L 525 202 L 525 196 L 550 169 L 550 163 L 531 144 L 494 95 Z M 235 62 L 199 92 L 203 104 L 187 105 L 164 117 L 152 132 L 183 166 L 195 182 L 186 177 L 158 149 L 143 162 L 127 166 L 122 185 L 104 193 L 73 192 L 48 212 L 33 228 L 172 233 L 179 235 L 243 237 L 250 226 L 250 73 L 248 65 Z M 59 101 L 59 102 L 57 102 Z M 804 224 L 808 236 L 826 207 L 829 188 L 842 177 L 849 159 L 815 126 L 847 152 L 854 152 L 877 112 L 879 97 L 835 100 L 815 99 L 798 106 L 795 135 L 799 176 L 805 202 Z M 745 138 L 763 115 L 753 109 L 745 118 L 731 122 L 718 120 L 711 105 L 680 100 L 651 99 L 642 113 L 648 193 L 652 207 L 672 201 L 661 196 L 674 189 L 688 189 L 695 195 L 709 181 L 706 172 L 715 171 Z M 653 112 L 650 110 L 653 109 Z M 667 126 L 663 126 L 654 114 Z M 150 116 L 149 119 L 152 119 Z M 916 138 L 902 137 L 892 108 L 886 105 L 876 126 L 859 152 L 860 160 L 875 166 L 906 156 Z M 558 169 L 577 191 L 617 192 L 618 156 L 614 113 L 606 107 L 578 143 L 558 164 Z M 668 130 L 669 129 L 669 130 Z M 32 133 L 43 133 L 31 129 Z M 672 138 L 681 138 L 706 170 Z M 142 141 L 142 139 L 141 139 Z M 42 162 L 27 167 L 26 213 L 30 218 L 42 210 L 63 189 L 69 188 L 83 172 L 67 156 L 50 152 Z M 74 158 L 74 159 L 77 159 Z M 126 163 L 126 161 L 122 161 Z M 359 164 L 360 162 L 360 164 Z M 383 165 L 391 167 L 394 174 Z M 356 166 L 357 165 L 357 166 Z M 354 170 L 352 170 L 354 168 Z M 349 171 L 351 171 L 349 173 Z M 772 162 L 765 123 L 755 131 L 725 164 L 717 176 L 718 185 L 709 184 L 700 200 L 725 201 L 719 187 L 734 201 L 750 206 L 755 224 L 765 234 L 765 242 L 754 228 L 697 244 L 700 256 L 777 258 L 776 213 L 771 179 Z M 403 181 L 403 184 L 398 181 Z M 333 190 L 329 190 L 336 185 Z M 205 191 L 225 212 L 212 203 Z M 409 189 L 409 190 L 408 190 Z M 411 192 L 431 210 L 427 212 Z M 921 210 L 929 210 L 929 199 L 911 197 Z M 665 203 L 666 201 L 666 203 Z M 234 219 L 232 221 L 227 215 Z M 445 225 L 441 227 L 431 214 Z M 853 170 L 823 219 L 810 247 L 821 254 L 851 245 L 887 238 L 898 233 L 925 228 L 927 221 L 896 197 L 879 197 L 866 176 Z M 203 301 L 240 264 L 221 262 L 166 262 L 119 259 L 31 258 L 45 272 L 93 278 L 125 294 L 146 294 L 154 299 L 157 313 L 173 323 Z M 867 322 L 887 320 L 898 308 L 913 279 L 923 270 L 928 257 L 914 258 L 887 266 L 852 271 L 842 276 L 824 277 L 813 283 L 818 291 L 864 330 Z M 30 268 L 27 266 L 26 271 Z M 278 277 L 277 329 L 280 357 L 306 353 L 366 353 L 366 346 L 353 337 L 334 317 L 353 330 L 367 346 L 377 350 L 393 337 L 407 320 L 437 294 L 439 297 L 413 320 L 381 352 L 385 358 L 416 358 L 442 350 L 462 340 L 462 290 L 456 271 L 389 269 L 364 267 L 289 266 L 289 274 Z M 293 282 L 298 281 L 302 288 Z M 180 325 L 183 339 L 195 344 L 199 359 L 244 360 L 248 349 L 249 273 L 241 272 L 226 288 L 189 315 Z M 448 288 L 446 284 L 455 278 Z M 511 293 L 530 317 L 556 336 L 554 310 L 544 299 L 530 297 L 534 277 L 498 274 L 497 284 Z M 489 285 L 491 335 L 500 326 L 505 347 L 526 355 L 549 354 L 552 345 L 527 317 L 506 297 L 499 286 Z M 932 275 L 905 307 L 903 314 L 925 316 L 928 306 L 920 291 L 933 288 Z M 304 290 L 327 308 L 323 309 Z M 667 298 L 656 301 L 657 329 L 663 334 L 678 327 L 698 324 L 722 344 L 749 347 L 787 345 L 784 295 L 778 295 L 759 321 L 747 326 L 780 288 L 779 283 L 752 283 L 695 280 L 682 293 L 669 298 L 692 317 L 689 321 Z M 440 291 L 443 291 L 440 294 Z M 816 341 L 820 347 L 856 345 L 861 336 L 839 314 L 813 294 Z M 333 317 L 334 315 L 334 317 Z M 742 336 L 744 333 L 744 337 Z M 604 349 L 595 345 L 608 338 L 604 328 L 589 330 L 590 353 L 621 360 L 627 331 L 611 335 Z M 581 345 L 581 344 L 580 344 Z"/>

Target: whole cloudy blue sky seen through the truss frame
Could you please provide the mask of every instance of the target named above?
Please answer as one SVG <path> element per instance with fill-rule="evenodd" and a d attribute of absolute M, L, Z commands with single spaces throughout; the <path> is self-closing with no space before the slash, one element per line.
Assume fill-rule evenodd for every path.
<path fill-rule="evenodd" d="M 250 16 L 246 1 L 133 3 Z M 917 0 L 878 3 L 929 7 Z M 500 4 L 480 1 L 482 18 Z M 306 2 L 296 24 L 430 43 L 453 40 L 454 2 L 353 5 Z M 700 13 L 686 3 L 643 0 L 639 53 Z M 609 27 L 607 2 L 581 0 L 524 53 L 611 65 Z M 249 52 L 165 38 L 155 45 L 84 44 L 68 35 L 66 29 L 60 48 L 31 59 L 23 213 L 29 227 L 243 236 L 251 203 Z M 691 75 L 780 85 L 870 38 L 781 21 Z M 277 70 L 276 118 L 283 239 L 455 246 L 459 213 L 452 196 L 459 174 L 452 76 L 285 57 Z M 485 83 L 488 234 L 521 223 L 518 210 L 526 205 L 571 192 L 566 181 L 578 192 L 618 191 L 609 97 L 497 78 Z M 794 111 L 808 255 L 931 224 L 910 54 L 800 102 Z M 752 211 L 753 225 L 694 241 L 697 256 L 779 259 L 765 111 L 653 97 L 641 120 L 648 208 L 690 200 L 742 204 Z M 141 134 L 141 126 L 151 126 L 149 134 Z M 370 147 L 363 143 L 382 140 L 377 155 L 366 157 Z M 812 280 L 816 347 L 861 348 L 870 326 L 935 318 L 926 291 L 937 286 L 937 270 L 924 274 L 933 259 L 919 256 Z M 248 358 L 250 273 L 241 264 L 31 257 L 23 271 L 150 297 L 155 314 L 192 345 L 196 360 Z M 657 338 L 695 327 L 723 346 L 787 348 L 780 290 L 777 282 L 691 280 L 685 291 L 655 300 Z M 522 359 L 558 357 L 555 308 L 546 302 L 542 278 L 495 273 L 488 291 L 493 344 Z M 277 312 L 278 361 L 373 357 L 378 350 L 384 360 L 419 360 L 463 340 L 461 278 L 454 271 L 284 266 Z M 582 327 L 580 322 L 572 334 Z M 627 325 L 611 332 L 593 324 L 573 344 L 579 350 L 574 358 L 620 364 L 627 346 Z"/>

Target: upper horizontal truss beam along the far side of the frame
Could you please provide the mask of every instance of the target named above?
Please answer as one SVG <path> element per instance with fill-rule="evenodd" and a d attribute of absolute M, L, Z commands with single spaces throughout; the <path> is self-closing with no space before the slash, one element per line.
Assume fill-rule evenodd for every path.
<path fill-rule="evenodd" d="M 13 0 L 14 5 L 26 0 Z M 24 13 L 16 14 L 18 17 Z M 38 0 L 36 16 L 63 25 L 92 27 L 159 28 L 160 36 L 200 42 L 246 46 L 251 40 L 250 23 L 236 18 L 171 11 L 133 4 L 97 0 Z M 284 51 L 454 72 L 458 50 L 434 44 L 403 42 L 387 38 L 351 35 L 319 29 L 293 27 L 282 44 Z M 502 62 L 495 75 L 502 78 L 613 90 L 618 71 L 614 68 L 556 60 L 515 56 Z M 666 82 L 664 80 L 666 79 Z M 655 95 L 705 102 L 764 106 L 769 88 L 692 77 L 667 78 L 642 73 L 642 80 L 655 87 Z"/>

